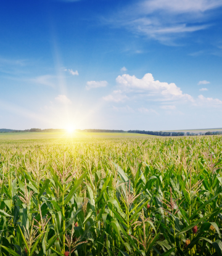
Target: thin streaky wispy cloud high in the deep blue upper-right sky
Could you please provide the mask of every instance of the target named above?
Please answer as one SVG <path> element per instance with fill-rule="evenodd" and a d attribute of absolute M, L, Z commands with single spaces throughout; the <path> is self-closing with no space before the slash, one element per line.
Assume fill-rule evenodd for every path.
<path fill-rule="evenodd" d="M 220 0 L 143 0 L 125 6 L 106 22 L 173 45 L 176 38 L 210 27 L 207 11 L 221 6 Z"/>

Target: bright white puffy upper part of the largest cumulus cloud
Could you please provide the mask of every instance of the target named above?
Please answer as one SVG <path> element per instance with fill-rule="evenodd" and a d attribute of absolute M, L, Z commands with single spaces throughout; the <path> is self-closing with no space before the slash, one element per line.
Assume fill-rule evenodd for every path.
<path fill-rule="evenodd" d="M 125 91 L 150 91 L 152 94 L 165 98 L 183 98 L 193 101 L 189 94 L 183 94 L 183 91 L 175 83 L 165 83 L 154 80 L 152 74 L 147 73 L 141 79 L 131 75 L 119 75 L 116 79 L 118 85 Z"/>

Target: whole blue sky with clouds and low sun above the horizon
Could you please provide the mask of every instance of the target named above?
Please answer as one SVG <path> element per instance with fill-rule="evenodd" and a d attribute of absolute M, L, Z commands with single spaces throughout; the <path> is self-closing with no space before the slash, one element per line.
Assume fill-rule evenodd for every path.
<path fill-rule="evenodd" d="M 222 0 L 2 0 L 0 128 L 222 127 Z"/>

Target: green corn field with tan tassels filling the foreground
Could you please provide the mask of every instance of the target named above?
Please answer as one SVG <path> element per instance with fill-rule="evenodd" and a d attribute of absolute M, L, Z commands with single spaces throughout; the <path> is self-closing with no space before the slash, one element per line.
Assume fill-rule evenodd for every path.
<path fill-rule="evenodd" d="M 0 255 L 222 255 L 222 137 L 0 145 Z"/>

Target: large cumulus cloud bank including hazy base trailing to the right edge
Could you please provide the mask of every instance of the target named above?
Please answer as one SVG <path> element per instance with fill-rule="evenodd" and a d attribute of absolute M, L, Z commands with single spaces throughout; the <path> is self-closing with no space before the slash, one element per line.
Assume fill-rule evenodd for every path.
<path fill-rule="evenodd" d="M 191 103 L 194 106 L 218 107 L 222 106 L 220 99 L 204 97 L 202 95 L 197 98 L 189 94 L 183 93 L 181 88 L 175 83 L 161 82 L 154 80 L 151 73 L 146 73 L 142 78 L 137 78 L 134 75 L 119 75 L 116 78 L 117 90 L 103 97 L 105 101 L 111 102 L 162 102 L 160 109 L 175 110 L 176 104 Z M 202 88 L 206 91 L 206 88 Z M 140 108 L 139 112 L 148 113 L 151 109 Z"/>

